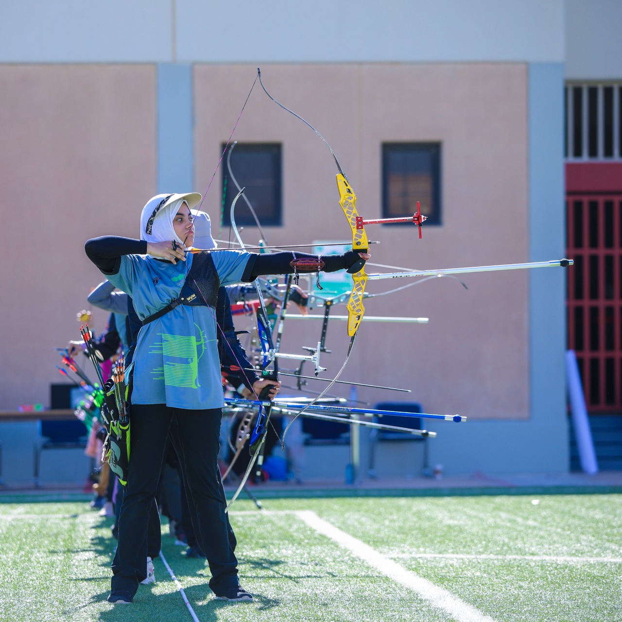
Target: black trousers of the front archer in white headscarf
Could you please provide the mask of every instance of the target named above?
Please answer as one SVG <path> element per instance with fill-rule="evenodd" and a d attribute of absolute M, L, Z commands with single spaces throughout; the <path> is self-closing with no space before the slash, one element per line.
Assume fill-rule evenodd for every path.
<path fill-rule="evenodd" d="M 133 404 L 128 485 L 121 516 L 119 544 L 113 560 L 111 590 L 131 597 L 147 577 L 147 524 L 164 460 L 166 438 L 177 420 L 182 471 L 196 509 L 198 540 L 210 566 L 210 588 L 221 595 L 238 585 L 238 560 L 230 544 L 231 529 L 218 470 L 221 409 L 190 411 L 165 404 Z"/>

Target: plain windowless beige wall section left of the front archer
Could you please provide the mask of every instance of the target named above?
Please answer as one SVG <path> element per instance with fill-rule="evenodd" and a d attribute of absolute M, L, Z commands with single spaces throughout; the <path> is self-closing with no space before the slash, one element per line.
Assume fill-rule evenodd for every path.
<path fill-rule="evenodd" d="M 152 65 L 0 66 L 0 409 L 49 404 L 63 381 L 53 348 L 80 338 L 76 313 L 102 280 L 84 243 L 137 235 L 155 123 Z"/>

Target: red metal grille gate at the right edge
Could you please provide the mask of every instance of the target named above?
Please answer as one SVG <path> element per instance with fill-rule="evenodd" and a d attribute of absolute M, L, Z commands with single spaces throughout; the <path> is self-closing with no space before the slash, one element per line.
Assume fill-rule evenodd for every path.
<path fill-rule="evenodd" d="M 588 411 L 622 412 L 622 192 L 567 193 L 568 346 Z"/>

